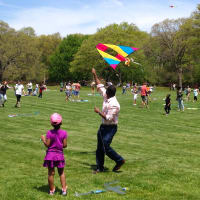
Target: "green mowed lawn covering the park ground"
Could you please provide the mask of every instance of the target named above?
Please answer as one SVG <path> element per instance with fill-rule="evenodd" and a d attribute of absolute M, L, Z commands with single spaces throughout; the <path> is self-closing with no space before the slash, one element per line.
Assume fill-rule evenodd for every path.
<path fill-rule="evenodd" d="M 0 108 L 0 199 L 103 199 L 103 200 L 197 200 L 200 199 L 200 104 L 185 102 L 185 111 L 177 111 L 175 92 L 156 88 L 149 109 L 133 106 L 132 95 L 121 94 L 118 132 L 112 147 L 125 159 L 119 173 L 112 172 L 114 162 L 108 158 L 108 171 L 92 174 L 95 165 L 96 133 L 101 123 L 94 113 L 101 108 L 101 96 L 88 96 L 90 88 L 81 89 L 81 99 L 88 102 L 65 102 L 65 93 L 50 87 L 42 99 L 22 97 L 21 108 L 14 108 L 15 96 L 8 91 L 8 102 Z M 172 94 L 172 110 L 164 115 L 163 99 Z M 193 95 L 192 95 L 193 97 Z M 187 108 L 198 108 L 197 110 Z M 51 129 L 53 112 L 63 116 L 62 128 L 68 131 L 65 168 L 68 196 L 57 192 L 48 195 L 47 169 L 42 167 L 45 148 L 40 135 Z M 17 117 L 8 115 L 19 114 Z M 125 195 L 114 192 L 76 197 L 104 189 L 104 183 L 119 181 L 128 187 Z"/>

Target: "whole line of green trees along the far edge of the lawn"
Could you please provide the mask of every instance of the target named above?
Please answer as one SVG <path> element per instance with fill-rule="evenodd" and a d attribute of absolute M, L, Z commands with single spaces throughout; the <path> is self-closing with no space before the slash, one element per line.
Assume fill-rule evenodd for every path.
<path fill-rule="evenodd" d="M 96 50 L 98 43 L 139 48 L 113 70 Z M 116 52 L 109 51 L 111 55 Z M 59 33 L 37 36 L 32 27 L 16 31 L 0 21 L 0 81 L 91 81 L 95 67 L 105 81 L 147 81 L 166 85 L 200 83 L 200 4 L 189 18 L 166 19 L 141 31 L 123 22 L 99 28 L 95 34 Z"/>

